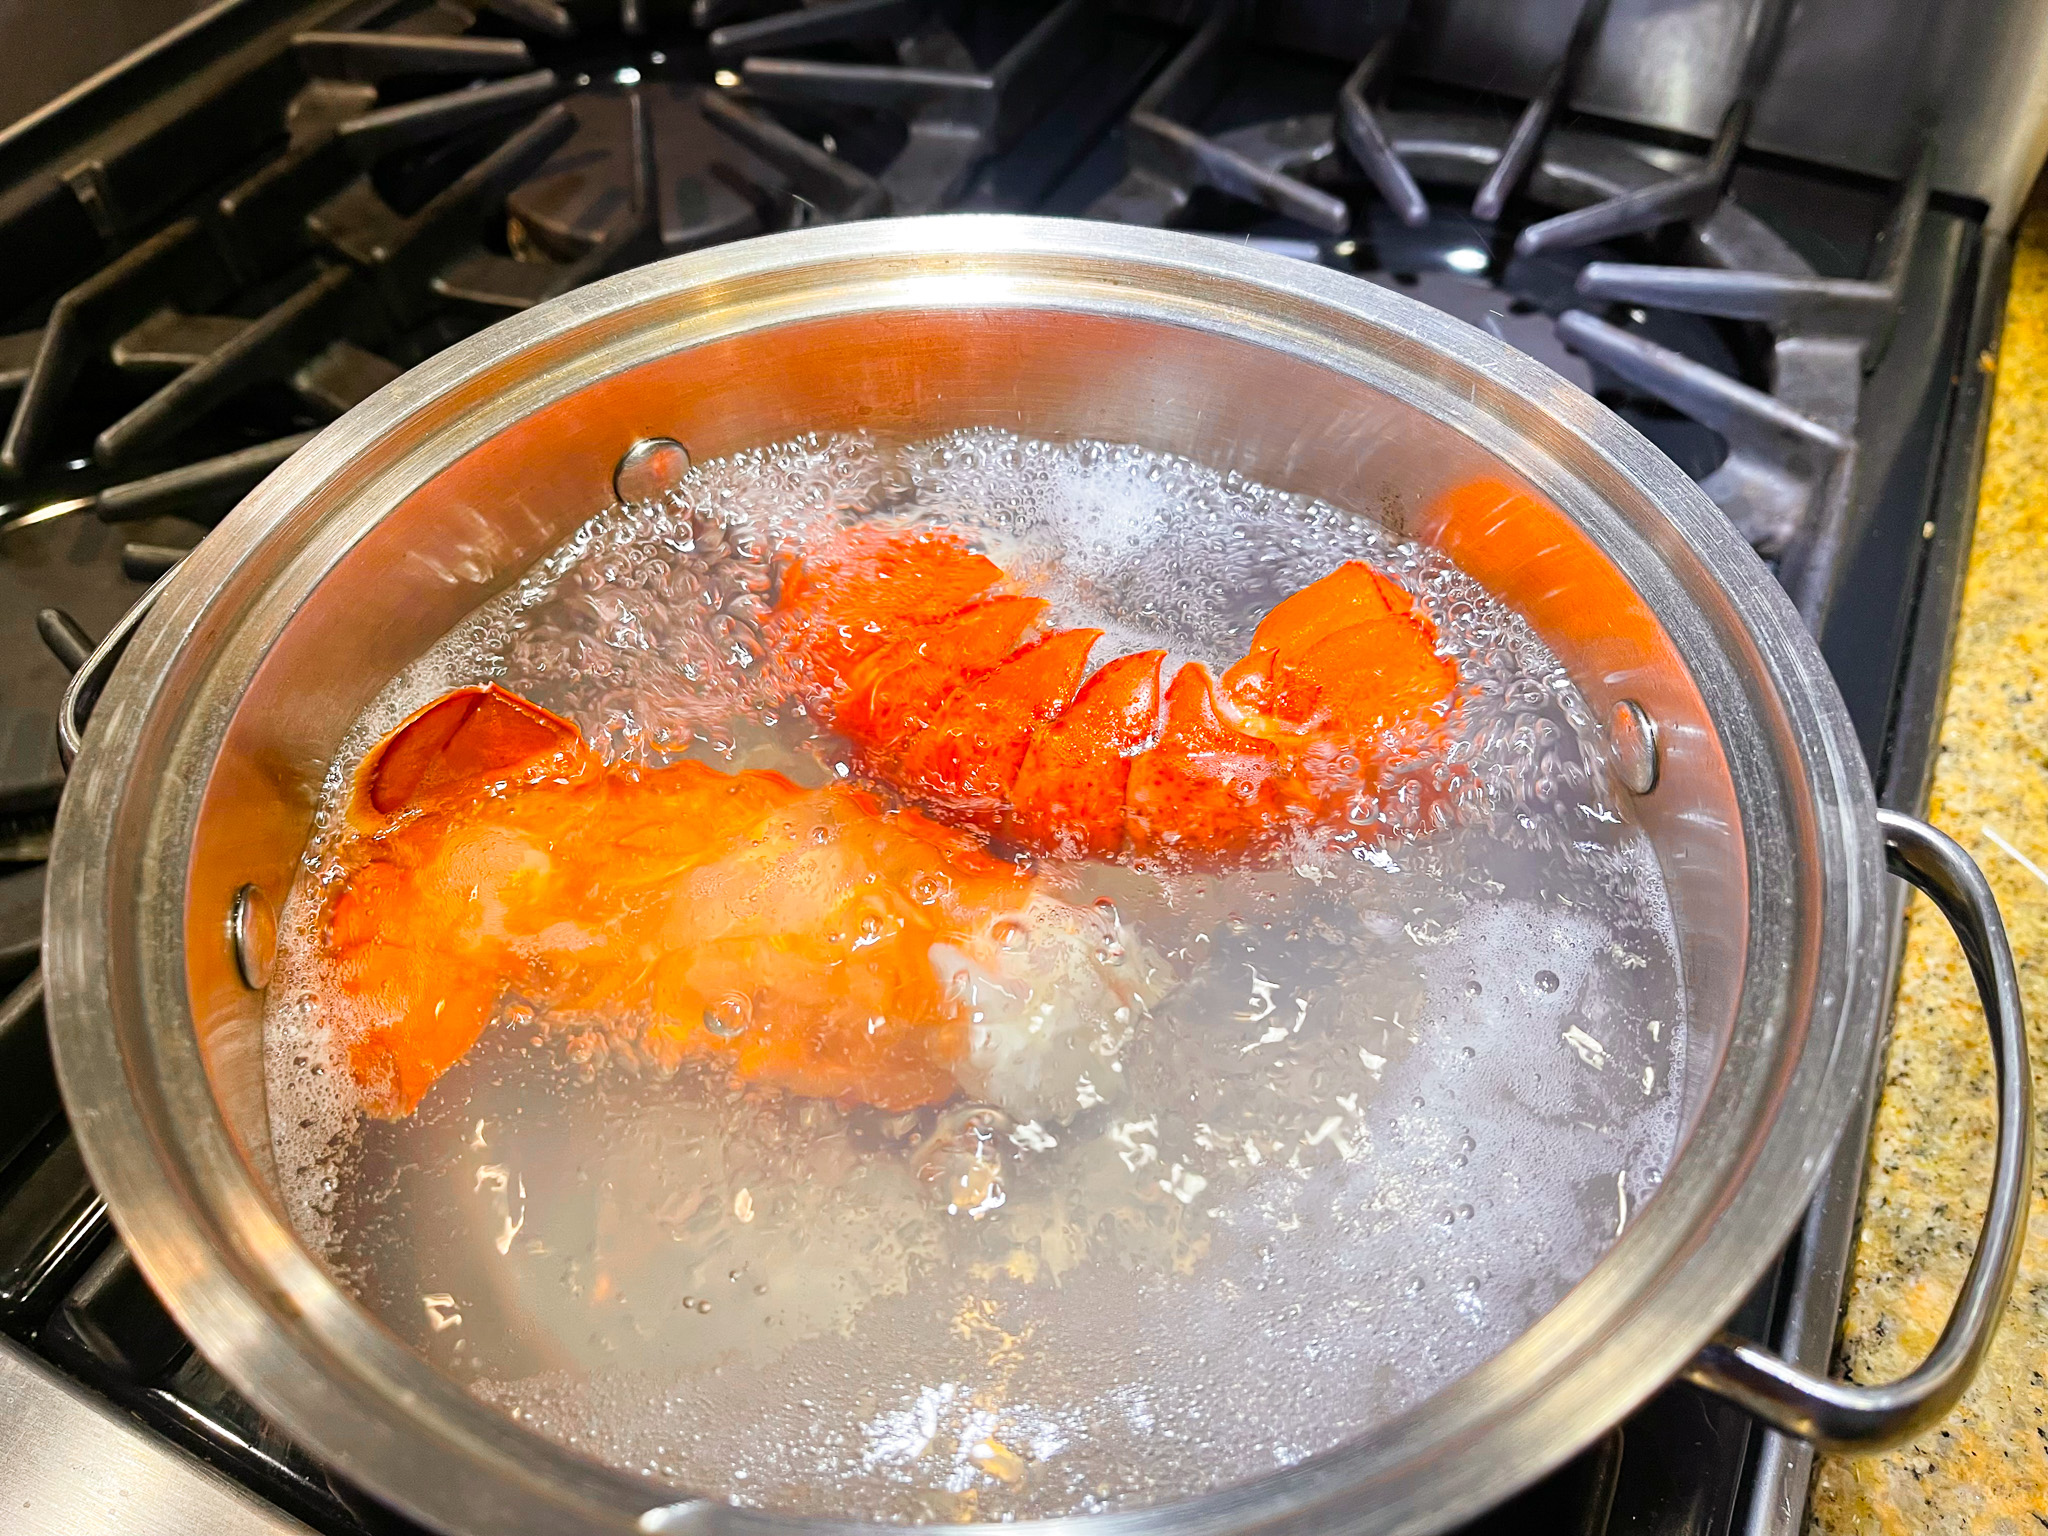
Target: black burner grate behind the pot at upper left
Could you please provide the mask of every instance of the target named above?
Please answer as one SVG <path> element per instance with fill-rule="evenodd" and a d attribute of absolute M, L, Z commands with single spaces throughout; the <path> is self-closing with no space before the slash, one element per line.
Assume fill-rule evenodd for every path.
<path fill-rule="evenodd" d="M 762 10 L 698 4 L 711 23 L 741 8 Z M 836 0 L 670 57 L 631 41 L 631 0 L 623 47 L 545 0 L 336 12 L 250 39 L 170 92 L 168 127 L 123 123 L 55 178 L 90 238 L 37 250 L 47 270 L 14 272 L 31 291 L 0 293 L 39 322 L 0 336 L 0 528 L 88 508 L 205 524 L 307 428 L 504 313 L 664 252 L 950 205 L 1100 53 L 1108 14 L 1061 0 L 954 27 Z M 231 111 L 238 133 L 190 133 L 195 111 Z M 266 133 L 283 147 L 250 164 Z M 0 238 L 51 209 L 0 205 Z M 35 307 L 37 276 L 100 250 Z"/>

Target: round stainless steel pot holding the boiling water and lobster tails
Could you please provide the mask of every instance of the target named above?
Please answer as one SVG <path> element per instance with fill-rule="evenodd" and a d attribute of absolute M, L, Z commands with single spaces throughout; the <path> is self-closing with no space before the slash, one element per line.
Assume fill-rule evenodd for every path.
<path fill-rule="evenodd" d="M 541 1442 L 352 1303 L 279 1208 L 248 979 L 344 725 L 610 500 L 629 444 L 705 457 L 971 424 L 1190 455 L 1454 551 L 1632 727 L 1692 1010 L 1681 1153 L 1520 1341 L 1364 1440 L 1085 1524 L 1440 1530 L 1679 1372 L 1835 1446 L 1946 1411 L 2019 1251 L 2032 1116 L 2011 956 L 1962 850 L 1878 813 L 1821 655 L 1751 551 L 1616 416 L 1446 315 L 1221 242 L 1012 217 L 754 240 L 508 319 L 322 432 L 166 582 L 111 676 L 123 637 L 80 676 L 80 702 L 104 692 L 51 854 L 51 1032 L 94 1182 L 199 1348 L 444 1530 L 817 1528 Z M 1481 473 L 1554 512 L 1434 510 Z M 1976 967 L 2001 1120 L 1950 1329 L 1919 1372 L 1870 1389 L 1714 1333 L 1790 1235 L 1880 1049 L 1886 850 Z"/>

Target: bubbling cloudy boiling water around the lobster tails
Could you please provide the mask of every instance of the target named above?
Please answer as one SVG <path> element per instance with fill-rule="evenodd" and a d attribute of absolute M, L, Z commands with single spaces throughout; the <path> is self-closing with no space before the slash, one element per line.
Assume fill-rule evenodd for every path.
<path fill-rule="evenodd" d="M 1106 631 L 1098 664 L 1221 670 L 1370 559 L 1458 659 L 1454 825 L 1419 825 L 1444 768 L 1419 756 L 1378 807 L 1401 838 L 1049 862 L 1157 995 L 1053 1116 L 743 1092 L 508 1010 L 410 1120 L 365 1120 L 315 942 L 362 750 L 496 678 L 614 760 L 858 778 L 756 627 L 772 553 L 848 516 L 979 530 L 1055 623 Z M 805 440 L 600 512 L 356 723 L 285 928 L 268 1092 L 301 1233 L 537 1432 L 793 1511 L 1108 1509 L 1327 1450 L 1548 1311 L 1655 1190 L 1681 1102 L 1657 862 L 1554 657 L 1427 549 L 1106 444 Z"/>

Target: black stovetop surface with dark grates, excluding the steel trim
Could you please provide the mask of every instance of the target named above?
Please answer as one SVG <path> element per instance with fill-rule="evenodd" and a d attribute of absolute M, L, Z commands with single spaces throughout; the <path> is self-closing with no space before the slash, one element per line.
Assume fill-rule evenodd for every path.
<path fill-rule="evenodd" d="M 1556 213 L 1536 197 L 1540 174 L 1493 221 L 1470 213 L 1470 184 L 1430 178 L 1415 125 L 1452 121 L 1497 143 L 1522 102 L 1405 78 L 1405 6 L 1362 8 L 1395 27 L 1364 70 L 1255 31 L 1206 37 L 1141 14 L 1157 10 L 1171 8 L 244 0 L 0 135 L 0 625 L 12 629 L 0 645 L 0 985 L 12 987 L 0 1006 L 0 1329 L 315 1528 L 393 1526 L 193 1354 L 111 1233 L 43 1040 L 37 860 L 61 791 L 53 715 L 78 659 L 76 645 L 59 657 L 61 633 L 104 635 L 297 434 L 451 340 L 721 240 L 891 209 L 1020 209 L 1169 221 L 1413 291 L 1593 387 L 1700 477 L 1741 422 L 1716 430 L 1669 391 L 1589 365 L 1561 344 L 1556 315 L 1593 311 L 1739 381 L 1739 406 L 1767 408 L 1778 377 L 1763 326 L 1575 289 L 1589 260 L 1698 258 L 1686 229 L 1516 256 L 1516 236 Z M 840 37 L 801 35 L 834 25 Z M 1399 172 L 1370 174 L 1358 113 L 1368 137 L 1376 125 L 1423 168 L 1421 223 L 1393 211 Z M 1556 133 L 1665 166 L 1704 147 L 1595 121 L 1561 119 Z M 1915 188 L 1745 156 L 1726 195 L 1812 272 L 1862 279 L 1884 270 L 1886 231 Z M 1880 795 L 1911 809 L 1974 512 L 1976 358 L 1995 344 L 2003 266 L 1974 207 L 1935 197 L 1903 227 L 1896 322 L 1868 371 L 1847 375 L 1853 483 L 1831 596 L 1808 616 Z M 1761 553 L 1792 569 L 1808 539 L 1798 524 Z M 53 649 L 31 637 L 43 610 L 70 621 L 43 618 Z M 1786 1343 L 1815 1366 L 1862 1145 L 1858 1128 L 1831 1214 L 1737 1319 L 1765 1337 L 1804 1319 Z M 1786 1481 L 1782 1460 L 1737 1411 L 1673 1386 L 1475 1530 L 1790 1530 L 1796 1509 L 1759 1503 L 1759 1468 L 1778 1477 L 1769 1501 L 1804 1499 L 1804 1462 Z"/>

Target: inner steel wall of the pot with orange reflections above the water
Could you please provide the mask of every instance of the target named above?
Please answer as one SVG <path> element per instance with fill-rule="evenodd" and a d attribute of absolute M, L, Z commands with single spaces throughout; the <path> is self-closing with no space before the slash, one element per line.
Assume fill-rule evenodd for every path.
<path fill-rule="evenodd" d="M 395 461 L 414 473 L 395 506 L 397 471 L 387 471 L 385 489 L 342 477 L 301 510 L 303 526 L 330 530 L 297 561 L 295 580 L 319 561 L 317 582 L 256 668 L 215 760 L 188 881 L 193 1016 L 215 1096 L 272 1192 L 262 997 L 242 985 L 227 942 L 236 891 L 254 883 L 283 905 L 348 723 L 604 506 L 621 451 L 653 434 L 680 438 L 696 459 L 854 428 L 1137 442 L 1444 547 L 1532 621 L 1602 717 L 1634 698 L 1659 725 L 1663 776 L 1638 813 L 1683 940 L 1688 1110 L 1704 1100 L 1747 950 L 1743 823 L 1724 754 L 1665 629 L 1577 522 L 1528 504 L 1501 516 L 1440 502 L 1475 477 L 1534 489 L 1466 432 L 1278 346 L 1028 303 L 870 309 L 739 330 L 596 381 L 528 379 L 530 399 L 512 401 L 520 410 L 502 430 L 442 463 L 426 451 Z M 461 438 L 463 422 L 498 420 L 506 403 L 485 377 L 430 410 L 442 438 Z"/>

